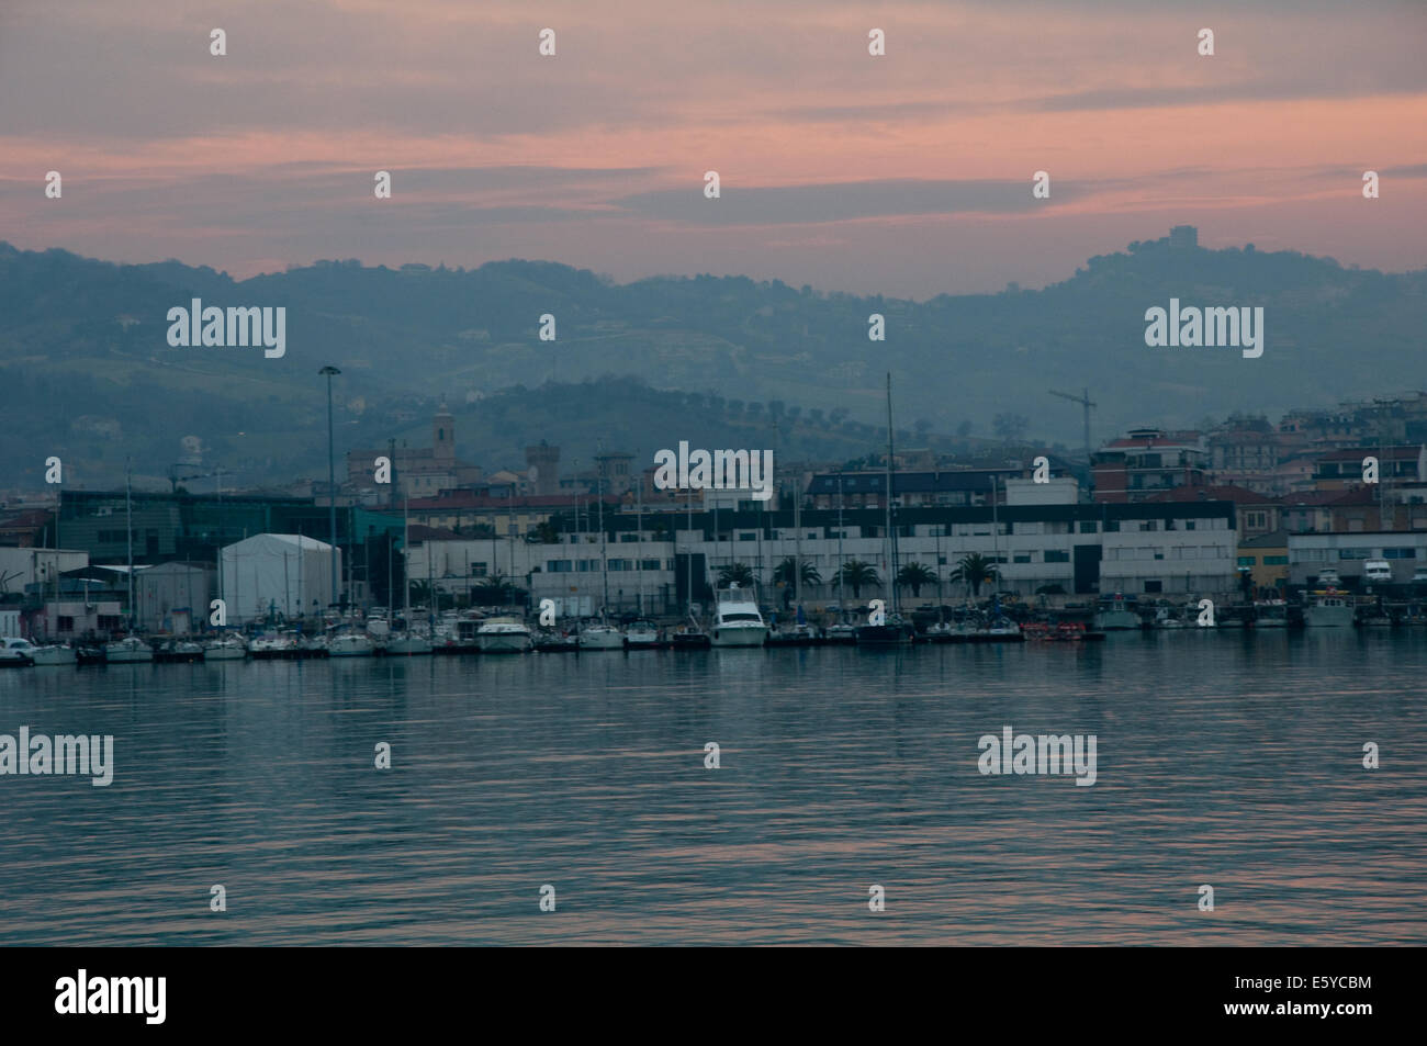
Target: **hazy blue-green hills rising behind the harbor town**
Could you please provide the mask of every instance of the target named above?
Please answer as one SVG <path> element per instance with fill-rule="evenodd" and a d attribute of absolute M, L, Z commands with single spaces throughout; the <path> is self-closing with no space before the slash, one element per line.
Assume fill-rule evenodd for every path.
<path fill-rule="evenodd" d="M 489 465 L 515 464 L 508 454 L 539 438 L 564 441 L 567 459 L 579 454 L 571 441 L 592 450 L 604 438 L 632 450 L 698 438 L 684 431 L 694 421 L 686 404 L 655 397 L 669 410 L 655 408 L 655 390 L 722 397 L 722 407 L 705 402 L 715 428 L 736 431 L 748 421 L 771 431 L 769 401 L 801 407 L 805 417 L 821 411 L 822 422 L 833 410 L 850 412 L 876 428 L 886 370 L 899 428 L 952 432 L 970 422 L 989 437 L 992 418 L 1010 412 L 1030 418 L 1033 437 L 1079 445 L 1079 408 L 1046 390 L 1087 385 L 1103 438 L 1134 424 L 1192 425 L 1206 414 L 1424 387 L 1424 271 L 1344 270 L 1331 258 L 1251 245 L 1174 250 L 1166 240 L 1090 258 L 1045 290 L 926 303 L 738 277 L 618 285 L 535 261 L 471 271 L 318 263 L 234 281 L 177 261 L 116 265 L 0 244 L 0 482 L 37 484 L 49 454 L 67 454 L 91 482 L 121 468 L 126 454 L 140 471 L 160 474 L 177 459 L 183 435 L 204 441 L 205 459 L 241 461 L 271 479 L 311 472 L 325 457 L 317 370 L 327 362 L 344 371 L 340 450 L 392 434 L 425 442 L 441 398 L 458 412 L 461 455 Z M 170 348 L 167 310 L 193 297 L 285 305 L 287 355 Z M 1147 348 L 1144 310 L 1170 297 L 1264 305 L 1263 358 Z M 545 313 L 557 318 L 555 342 L 538 340 Z M 868 340 L 870 313 L 886 317 L 885 342 Z M 531 391 L 482 398 L 551 380 L 578 390 L 602 375 L 636 375 L 649 388 L 604 382 L 567 400 Z M 484 414 L 507 402 L 522 405 L 498 424 Z M 751 417 L 751 402 L 762 418 Z M 856 442 L 843 424 L 839 414 L 835 425 L 803 425 L 813 440 L 805 450 L 832 454 L 845 440 Z M 796 441 L 796 430 L 785 428 L 785 438 Z M 818 442 L 823 430 L 831 444 Z"/>

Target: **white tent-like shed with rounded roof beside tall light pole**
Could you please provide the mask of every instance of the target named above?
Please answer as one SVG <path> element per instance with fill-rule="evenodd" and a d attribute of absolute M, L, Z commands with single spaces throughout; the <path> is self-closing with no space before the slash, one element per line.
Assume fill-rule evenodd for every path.
<path fill-rule="evenodd" d="M 218 595 L 237 625 L 271 612 L 320 614 L 332 598 L 332 547 L 298 534 L 255 534 L 221 552 Z M 337 551 L 341 577 L 341 549 Z"/>

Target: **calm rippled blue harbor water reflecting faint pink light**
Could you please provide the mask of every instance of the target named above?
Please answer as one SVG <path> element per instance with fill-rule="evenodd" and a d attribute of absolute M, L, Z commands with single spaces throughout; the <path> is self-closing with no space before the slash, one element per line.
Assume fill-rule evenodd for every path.
<path fill-rule="evenodd" d="M 1421 945 L 1424 666 L 1307 628 L 0 672 L 0 733 L 114 738 L 106 788 L 0 776 L 0 942 Z M 1095 785 L 982 775 L 1006 725 L 1095 735 Z"/>

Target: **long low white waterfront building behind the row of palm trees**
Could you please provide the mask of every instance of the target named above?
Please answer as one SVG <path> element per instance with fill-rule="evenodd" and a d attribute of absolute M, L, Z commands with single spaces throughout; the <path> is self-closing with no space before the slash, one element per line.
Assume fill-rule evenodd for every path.
<path fill-rule="evenodd" d="M 1067 596 L 1123 591 L 1136 595 L 1226 596 L 1237 588 L 1239 537 L 1232 502 L 1164 504 L 1020 504 L 996 508 L 903 508 L 893 517 L 896 564 L 922 564 L 942 579 L 946 601 L 966 598 L 949 575 L 960 559 L 980 554 L 1000 569 L 1000 591 L 1023 596 L 1059 587 Z M 890 542 L 876 509 L 806 509 L 801 527 L 793 512 L 614 514 L 605 537 L 562 534 L 558 544 L 524 539 L 427 541 L 411 548 L 411 577 L 462 594 L 498 575 L 529 592 L 532 601 L 588 601 L 598 612 L 675 611 L 686 605 L 692 572 L 694 601 L 708 599 L 719 569 L 745 564 L 763 601 L 779 604 L 773 585 L 779 562 L 801 555 L 822 584 L 805 585 L 805 606 L 839 599 L 833 579 L 848 561 L 869 564 L 880 584 L 863 587 L 860 599 L 889 596 Z M 841 532 L 841 541 L 839 541 Z M 801 539 L 799 539 L 801 534 Z M 986 589 L 983 589 L 983 595 Z M 919 595 L 902 589 L 903 602 L 936 598 L 935 584 Z M 852 599 L 849 587 L 846 599 Z"/>

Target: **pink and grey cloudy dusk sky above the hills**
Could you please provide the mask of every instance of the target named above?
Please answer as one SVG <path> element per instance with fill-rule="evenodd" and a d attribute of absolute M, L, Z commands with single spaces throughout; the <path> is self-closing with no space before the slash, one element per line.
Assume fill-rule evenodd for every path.
<path fill-rule="evenodd" d="M 1193 224 L 1401 271 L 1427 265 L 1424 53 L 1421 0 L 3 0 L 0 240 L 925 300 Z"/>

